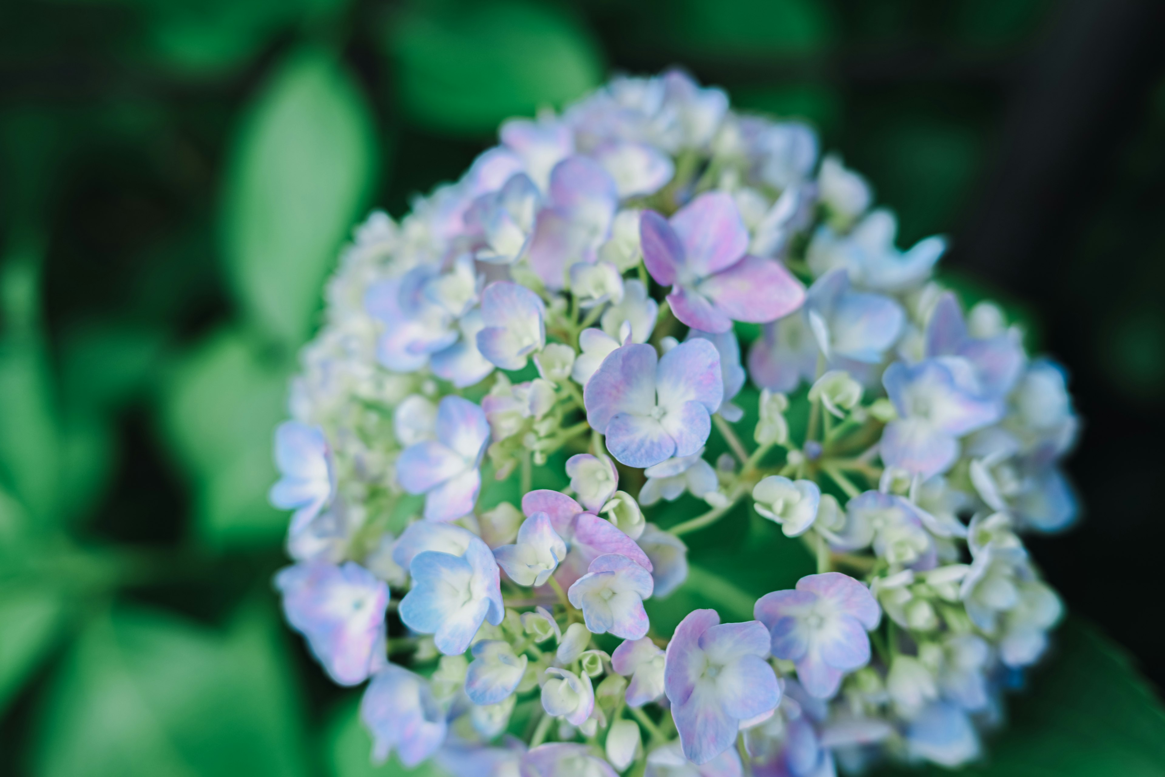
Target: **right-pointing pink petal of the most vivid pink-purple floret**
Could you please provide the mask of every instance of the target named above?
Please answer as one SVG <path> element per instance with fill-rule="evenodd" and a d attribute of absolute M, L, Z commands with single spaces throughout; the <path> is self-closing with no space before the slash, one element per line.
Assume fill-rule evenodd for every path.
<path fill-rule="evenodd" d="M 736 322 L 764 324 L 788 316 L 805 302 L 805 287 L 771 259 L 744 256 L 704 280 L 702 296 Z"/>

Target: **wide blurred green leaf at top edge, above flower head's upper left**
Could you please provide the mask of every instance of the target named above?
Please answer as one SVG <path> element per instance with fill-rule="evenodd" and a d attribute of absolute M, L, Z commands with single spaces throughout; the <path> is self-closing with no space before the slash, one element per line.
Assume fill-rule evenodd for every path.
<path fill-rule="evenodd" d="M 603 77 L 589 33 L 550 3 L 416 0 L 387 44 L 405 113 L 449 133 L 493 133 L 503 119 L 560 106 Z"/>

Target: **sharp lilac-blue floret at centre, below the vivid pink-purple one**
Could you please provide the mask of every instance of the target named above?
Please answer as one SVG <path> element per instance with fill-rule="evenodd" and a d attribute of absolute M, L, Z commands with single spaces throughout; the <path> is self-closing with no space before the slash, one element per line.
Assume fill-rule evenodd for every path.
<path fill-rule="evenodd" d="M 650 345 L 608 355 L 584 389 L 587 421 L 607 450 L 631 467 L 698 451 L 723 397 L 720 354 L 707 340 L 676 346 L 663 359 Z"/>

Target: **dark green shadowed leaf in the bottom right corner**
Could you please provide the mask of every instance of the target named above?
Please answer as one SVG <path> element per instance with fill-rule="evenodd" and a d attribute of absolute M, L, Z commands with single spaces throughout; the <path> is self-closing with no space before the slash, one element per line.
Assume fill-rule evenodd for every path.
<path fill-rule="evenodd" d="M 987 741 L 983 777 L 1157 777 L 1165 774 L 1165 711 L 1124 651 L 1093 626 L 1069 619 L 1046 666 L 1009 697 L 1009 718 Z M 880 772 L 883 774 L 883 772 Z M 887 771 L 934 776 L 937 768 Z"/>

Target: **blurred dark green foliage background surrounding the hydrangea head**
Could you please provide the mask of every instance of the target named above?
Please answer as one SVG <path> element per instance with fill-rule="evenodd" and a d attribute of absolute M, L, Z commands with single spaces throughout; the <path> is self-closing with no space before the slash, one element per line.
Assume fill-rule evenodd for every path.
<path fill-rule="evenodd" d="M 0 775 L 395 774 L 270 587 L 322 283 L 501 119 L 673 64 L 1067 366 L 1085 514 L 1033 550 L 1080 620 L 983 769 L 1162 774 L 1163 40 L 1155 0 L 0 3 Z"/>

